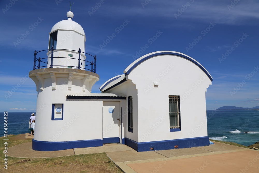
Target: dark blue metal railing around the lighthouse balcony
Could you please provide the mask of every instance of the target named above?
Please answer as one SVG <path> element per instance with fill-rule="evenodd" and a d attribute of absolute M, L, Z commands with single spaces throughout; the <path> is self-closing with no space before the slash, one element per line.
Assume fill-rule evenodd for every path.
<path fill-rule="evenodd" d="M 78 58 L 67 58 L 67 57 L 53 57 L 53 51 L 55 50 L 65 50 L 65 51 L 73 51 L 73 52 L 78 52 Z M 51 57 L 46 57 L 46 58 L 37 58 L 37 54 L 39 52 L 43 52 L 43 51 L 51 51 Z M 35 69 L 39 69 L 39 68 L 55 68 L 56 66 L 63 66 L 63 67 L 67 67 L 67 68 L 78 68 L 78 69 L 82 69 L 82 70 L 86 70 L 86 71 L 90 71 L 90 72 L 93 72 L 95 73 L 96 72 L 96 55 L 95 56 L 92 56 L 91 54 L 88 54 L 88 53 L 85 53 L 85 52 L 82 52 L 81 49 L 79 48 L 78 51 L 75 51 L 75 50 L 69 50 L 69 49 L 53 49 L 53 46 L 51 49 L 46 49 L 46 50 L 42 50 L 42 51 L 39 51 L 37 52 L 35 50 L 34 52 L 34 64 L 33 64 L 33 70 Z M 87 55 L 93 57 L 94 61 L 87 61 L 87 60 L 83 60 L 81 59 L 81 56 L 84 55 L 87 57 Z M 47 59 L 51 59 L 51 63 L 50 65 L 47 65 L 48 64 L 48 60 Z M 53 65 L 53 59 L 54 58 L 65 58 L 65 59 L 76 59 L 78 60 L 78 66 L 66 66 L 66 65 Z M 47 62 L 46 62 L 47 61 Z M 81 66 L 81 61 L 85 61 L 85 68 L 83 67 L 80 67 Z M 38 64 L 37 64 L 38 62 Z M 37 64 L 37 65 L 36 65 Z M 43 64 L 43 65 L 42 65 Z M 86 68 L 86 67 L 90 67 L 90 68 Z"/>

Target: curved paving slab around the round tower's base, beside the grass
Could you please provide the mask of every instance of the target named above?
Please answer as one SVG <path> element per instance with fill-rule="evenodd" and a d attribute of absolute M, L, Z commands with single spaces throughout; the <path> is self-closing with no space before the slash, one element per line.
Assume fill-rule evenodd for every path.
<path fill-rule="evenodd" d="M 45 158 L 74 155 L 73 149 L 60 151 L 35 151 L 32 150 L 32 142 L 19 144 L 8 148 L 8 156 L 22 158 Z"/>

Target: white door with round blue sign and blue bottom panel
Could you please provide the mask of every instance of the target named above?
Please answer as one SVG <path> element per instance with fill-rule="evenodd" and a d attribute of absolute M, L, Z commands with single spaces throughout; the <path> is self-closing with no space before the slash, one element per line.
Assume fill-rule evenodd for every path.
<path fill-rule="evenodd" d="M 103 102 L 103 143 L 120 142 L 120 102 Z"/>

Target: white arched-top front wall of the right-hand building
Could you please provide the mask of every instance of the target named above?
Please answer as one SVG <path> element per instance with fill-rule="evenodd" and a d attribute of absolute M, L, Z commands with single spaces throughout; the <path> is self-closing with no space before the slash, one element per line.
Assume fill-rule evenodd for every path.
<path fill-rule="evenodd" d="M 205 91 L 211 80 L 197 65 L 174 55 L 157 56 L 135 67 L 128 79 L 138 90 L 135 94 L 138 105 L 133 105 L 133 110 L 138 109 L 138 120 L 133 121 L 138 123 L 138 137 L 127 132 L 126 137 L 149 142 L 207 136 Z M 153 87 L 154 81 L 159 82 L 158 87 Z M 109 92 L 122 92 L 133 84 L 127 83 Z M 169 95 L 180 96 L 181 132 L 170 132 Z"/>

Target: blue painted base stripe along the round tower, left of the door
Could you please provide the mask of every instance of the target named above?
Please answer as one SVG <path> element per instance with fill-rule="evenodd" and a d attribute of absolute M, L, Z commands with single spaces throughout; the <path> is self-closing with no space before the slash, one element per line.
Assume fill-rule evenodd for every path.
<path fill-rule="evenodd" d="M 65 142 L 36 141 L 32 139 L 32 149 L 37 151 L 57 151 L 71 148 L 99 147 L 103 146 L 103 140 L 82 140 Z"/>

